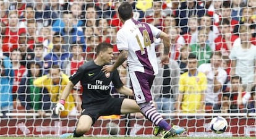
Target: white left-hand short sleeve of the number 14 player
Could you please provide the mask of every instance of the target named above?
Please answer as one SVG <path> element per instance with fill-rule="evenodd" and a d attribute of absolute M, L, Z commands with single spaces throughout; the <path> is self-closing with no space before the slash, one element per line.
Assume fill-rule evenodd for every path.
<path fill-rule="evenodd" d="M 116 44 L 118 50 L 128 50 L 128 40 L 123 30 L 117 32 Z"/>

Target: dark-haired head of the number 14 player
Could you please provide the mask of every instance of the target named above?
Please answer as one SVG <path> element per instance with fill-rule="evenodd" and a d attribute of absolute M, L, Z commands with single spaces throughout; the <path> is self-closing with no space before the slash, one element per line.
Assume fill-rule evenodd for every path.
<path fill-rule="evenodd" d="M 132 6 L 129 4 L 129 2 L 122 2 L 122 4 L 118 7 L 118 13 L 122 20 L 126 21 L 133 16 Z"/>

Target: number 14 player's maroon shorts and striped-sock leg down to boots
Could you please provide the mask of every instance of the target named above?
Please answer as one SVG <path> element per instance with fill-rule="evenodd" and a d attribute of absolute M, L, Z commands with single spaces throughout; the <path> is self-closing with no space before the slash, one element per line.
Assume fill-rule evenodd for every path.
<path fill-rule="evenodd" d="M 151 97 L 151 85 L 153 84 L 154 76 L 149 74 L 144 74 L 140 72 L 131 72 L 130 79 L 132 83 L 132 87 L 134 90 L 135 99 L 140 106 L 140 111 L 146 116 L 153 124 L 158 125 L 161 129 L 164 129 L 163 137 L 173 137 L 176 134 L 180 134 L 182 132 L 176 132 L 175 129 L 171 128 L 171 125 L 166 122 L 160 113 L 156 110 L 155 106 L 152 103 Z M 184 130 L 185 129 L 181 129 Z M 183 131 L 183 132 L 184 132 Z M 155 134 L 155 132 L 154 132 Z M 158 133 L 156 133 L 158 135 Z"/>

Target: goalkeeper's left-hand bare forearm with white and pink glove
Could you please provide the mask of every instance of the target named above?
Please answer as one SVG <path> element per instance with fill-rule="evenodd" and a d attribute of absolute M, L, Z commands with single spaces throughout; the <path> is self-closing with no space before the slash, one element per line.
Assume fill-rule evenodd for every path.
<path fill-rule="evenodd" d="M 72 91 L 73 87 L 74 84 L 71 81 L 69 81 L 61 94 L 59 103 L 57 103 L 56 106 L 54 106 L 53 108 L 54 115 L 58 115 L 61 111 L 64 111 L 65 100 L 67 96 L 69 96 L 69 93 Z"/>

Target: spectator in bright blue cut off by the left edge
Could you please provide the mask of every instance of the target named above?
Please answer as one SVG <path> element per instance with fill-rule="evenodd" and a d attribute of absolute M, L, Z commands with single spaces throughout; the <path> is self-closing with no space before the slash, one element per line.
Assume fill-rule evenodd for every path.
<path fill-rule="evenodd" d="M 9 57 L 1 56 L 0 59 L 0 109 L 2 118 L 6 118 L 6 113 L 10 113 L 13 109 L 13 98 L 12 98 L 12 84 L 14 82 L 14 70 L 12 70 L 12 63 Z"/>

